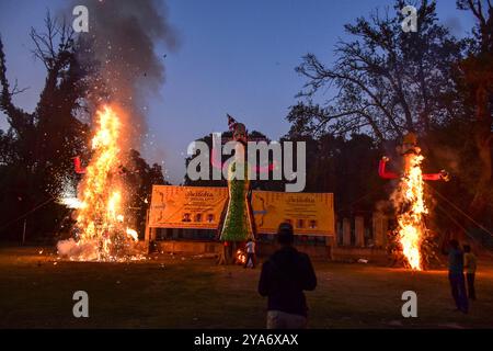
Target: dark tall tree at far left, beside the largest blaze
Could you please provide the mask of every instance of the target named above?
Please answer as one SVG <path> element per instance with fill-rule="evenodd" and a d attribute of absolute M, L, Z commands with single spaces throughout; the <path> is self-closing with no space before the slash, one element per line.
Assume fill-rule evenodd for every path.
<path fill-rule="evenodd" d="M 0 38 L 0 111 L 7 115 L 10 128 L 2 134 L 0 192 L 1 215 L 15 218 L 39 203 L 56 199 L 66 183 L 74 182 L 72 157 L 85 148 L 88 125 L 78 120 L 83 112 L 82 100 L 91 88 L 88 63 L 78 57 L 81 42 L 74 39 L 70 25 L 45 20 L 45 33 L 31 30 L 33 54 L 46 67 L 46 81 L 34 112 L 28 113 L 13 103 L 21 93 L 7 79 L 7 61 Z M 46 223 L 56 225 L 55 205 L 43 208 Z M 7 220 L 4 220 L 7 222 Z M 46 229 L 46 228 L 45 228 Z M 42 229 L 43 231 L 44 229 Z"/>

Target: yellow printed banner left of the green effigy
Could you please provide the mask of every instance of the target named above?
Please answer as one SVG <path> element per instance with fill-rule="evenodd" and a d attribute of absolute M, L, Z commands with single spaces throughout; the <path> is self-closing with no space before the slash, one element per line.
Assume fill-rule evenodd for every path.
<path fill-rule="evenodd" d="M 153 185 L 149 227 L 217 229 L 227 188 Z"/>

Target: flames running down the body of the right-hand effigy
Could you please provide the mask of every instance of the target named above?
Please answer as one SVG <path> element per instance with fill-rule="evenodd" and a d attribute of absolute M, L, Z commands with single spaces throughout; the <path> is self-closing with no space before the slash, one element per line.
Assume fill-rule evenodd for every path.
<path fill-rule="evenodd" d="M 394 202 L 398 214 L 398 239 L 402 246 L 403 254 L 413 270 L 423 269 L 422 244 L 426 235 L 424 215 L 428 213 L 424 203 L 424 183 L 421 155 L 409 155 L 409 171 L 401 178 Z"/>

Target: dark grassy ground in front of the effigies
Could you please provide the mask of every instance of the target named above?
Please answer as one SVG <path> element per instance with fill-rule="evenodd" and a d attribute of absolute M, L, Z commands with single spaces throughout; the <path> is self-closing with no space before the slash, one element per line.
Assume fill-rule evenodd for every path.
<path fill-rule="evenodd" d="M 259 269 L 182 256 L 67 262 L 38 250 L 0 249 L 0 328 L 264 327 Z M 310 327 L 492 328 L 493 267 L 479 264 L 479 301 L 463 315 L 452 310 L 445 271 L 314 262 L 319 285 L 307 293 Z M 78 290 L 89 293 L 90 318 L 72 316 Z M 417 293 L 417 318 L 401 315 L 401 294 L 408 290 Z"/>

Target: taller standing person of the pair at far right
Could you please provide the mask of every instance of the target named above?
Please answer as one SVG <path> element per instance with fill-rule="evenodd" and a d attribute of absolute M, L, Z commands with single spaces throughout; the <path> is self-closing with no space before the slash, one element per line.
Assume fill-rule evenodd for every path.
<path fill-rule="evenodd" d="M 449 246 L 448 280 L 450 282 L 451 294 L 456 302 L 457 310 L 467 314 L 469 304 L 463 279 L 463 252 L 460 250 L 457 240 L 450 240 Z"/>

